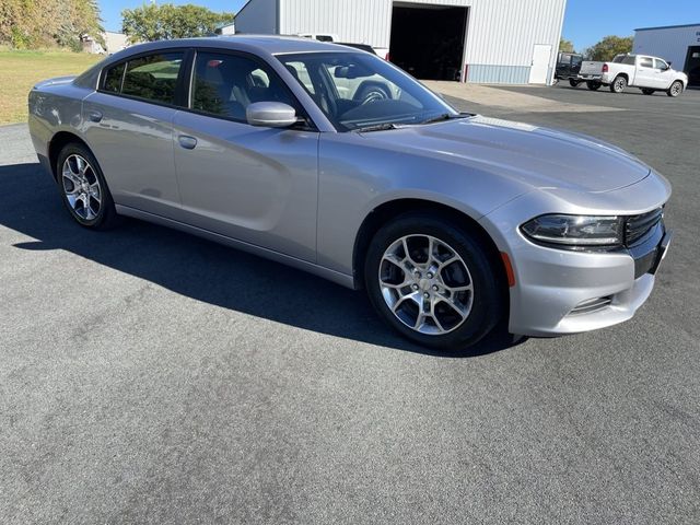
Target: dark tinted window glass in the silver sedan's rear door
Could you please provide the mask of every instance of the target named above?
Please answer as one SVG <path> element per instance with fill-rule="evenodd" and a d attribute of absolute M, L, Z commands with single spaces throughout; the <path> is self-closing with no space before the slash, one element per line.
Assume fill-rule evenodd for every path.
<path fill-rule="evenodd" d="M 163 52 L 129 60 L 121 94 L 175 104 L 175 85 L 182 63 L 182 52 Z"/>

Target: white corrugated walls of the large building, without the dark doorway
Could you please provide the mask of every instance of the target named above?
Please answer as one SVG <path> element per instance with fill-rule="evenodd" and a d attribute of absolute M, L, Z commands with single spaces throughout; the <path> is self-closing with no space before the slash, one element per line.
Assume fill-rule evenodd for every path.
<path fill-rule="evenodd" d="M 278 33 L 331 33 L 346 42 L 389 47 L 392 0 L 250 0 L 236 16 L 238 31 L 260 32 L 253 30 L 262 24 L 253 23 L 250 10 L 256 3 L 269 5 L 270 2 L 278 2 Z M 552 77 L 565 0 L 411 0 L 397 3 L 469 8 L 464 60 L 468 66 L 467 81 L 527 83 L 536 44 L 551 46 L 548 79 Z M 254 9 L 260 18 L 276 12 L 268 8 L 267 13 L 261 13 L 259 5 Z"/>

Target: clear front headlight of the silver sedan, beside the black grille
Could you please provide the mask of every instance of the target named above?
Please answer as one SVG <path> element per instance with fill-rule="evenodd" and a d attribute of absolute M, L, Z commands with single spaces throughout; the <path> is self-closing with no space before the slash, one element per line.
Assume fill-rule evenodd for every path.
<path fill-rule="evenodd" d="M 536 217 L 521 230 L 537 243 L 568 249 L 621 246 L 625 231 L 621 217 L 564 214 Z"/>

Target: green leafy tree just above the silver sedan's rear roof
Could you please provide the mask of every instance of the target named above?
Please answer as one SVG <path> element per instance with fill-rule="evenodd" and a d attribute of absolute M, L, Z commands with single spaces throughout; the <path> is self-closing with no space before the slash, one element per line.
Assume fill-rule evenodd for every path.
<path fill-rule="evenodd" d="M 121 11 L 121 31 L 131 42 L 153 42 L 213 34 L 217 26 L 233 21 L 233 13 L 217 13 L 200 5 L 153 3 Z"/>

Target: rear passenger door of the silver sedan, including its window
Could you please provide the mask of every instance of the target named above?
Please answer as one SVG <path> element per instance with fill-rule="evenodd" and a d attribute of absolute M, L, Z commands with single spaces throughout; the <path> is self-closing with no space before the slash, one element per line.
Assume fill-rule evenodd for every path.
<path fill-rule="evenodd" d="M 179 208 L 172 126 L 184 58 L 168 49 L 113 65 L 83 102 L 85 138 L 117 205 L 165 217 Z"/>

